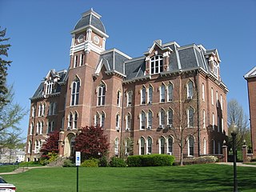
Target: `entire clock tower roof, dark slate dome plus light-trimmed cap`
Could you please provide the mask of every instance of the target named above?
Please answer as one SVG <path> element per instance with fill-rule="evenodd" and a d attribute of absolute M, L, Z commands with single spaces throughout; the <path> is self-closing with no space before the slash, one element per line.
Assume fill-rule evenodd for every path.
<path fill-rule="evenodd" d="M 74 26 L 74 30 L 78 30 L 85 26 L 94 26 L 96 29 L 106 34 L 105 26 L 100 20 L 102 16 L 97 14 L 93 9 L 86 11 L 82 14 L 82 18 Z"/>

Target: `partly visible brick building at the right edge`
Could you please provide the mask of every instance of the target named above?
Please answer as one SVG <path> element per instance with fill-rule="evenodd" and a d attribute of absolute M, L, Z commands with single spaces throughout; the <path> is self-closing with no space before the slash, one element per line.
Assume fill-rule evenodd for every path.
<path fill-rule="evenodd" d="M 254 158 L 256 157 L 256 66 L 245 76 L 248 87 L 249 110 L 250 110 L 250 134 Z"/>

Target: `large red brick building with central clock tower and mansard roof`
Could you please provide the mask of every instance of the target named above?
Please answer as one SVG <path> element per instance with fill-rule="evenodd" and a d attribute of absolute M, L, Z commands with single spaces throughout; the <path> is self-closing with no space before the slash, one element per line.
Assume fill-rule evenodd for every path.
<path fill-rule="evenodd" d="M 82 14 L 71 34 L 68 70 L 50 70 L 30 98 L 28 161 L 39 158 L 52 130 L 59 130 L 60 155 L 72 156 L 78 128 L 97 124 L 110 142 L 110 157 L 179 159 L 181 140 L 185 157 L 221 154 L 228 90 L 216 49 L 157 40 L 138 58 L 105 50 L 108 35 L 94 10 Z"/>

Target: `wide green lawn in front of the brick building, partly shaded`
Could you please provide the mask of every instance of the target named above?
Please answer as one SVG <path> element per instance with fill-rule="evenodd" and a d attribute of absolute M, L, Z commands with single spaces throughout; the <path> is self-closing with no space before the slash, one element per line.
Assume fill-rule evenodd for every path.
<path fill-rule="evenodd" d="M 76 168 L 2 175 L 18 192 L 76 191 Z M 238 167 L 238 190 L 255 191 L 256 168 Z M 233 166 L 79 168 L 79 191 L 232 191 Z"/>

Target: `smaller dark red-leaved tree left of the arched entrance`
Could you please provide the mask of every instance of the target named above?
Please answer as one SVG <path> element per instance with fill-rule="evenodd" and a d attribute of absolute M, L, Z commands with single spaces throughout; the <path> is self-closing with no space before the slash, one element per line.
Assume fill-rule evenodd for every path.
<path fill-rule="evenodd" d="M 59 133 L 57 130 L 48 134 L 46 142 L 42 144 L 40 152 L 42 152 L 42 158 L 50 158 L 49 153 L 58 154 L 58 138 Z"/>

